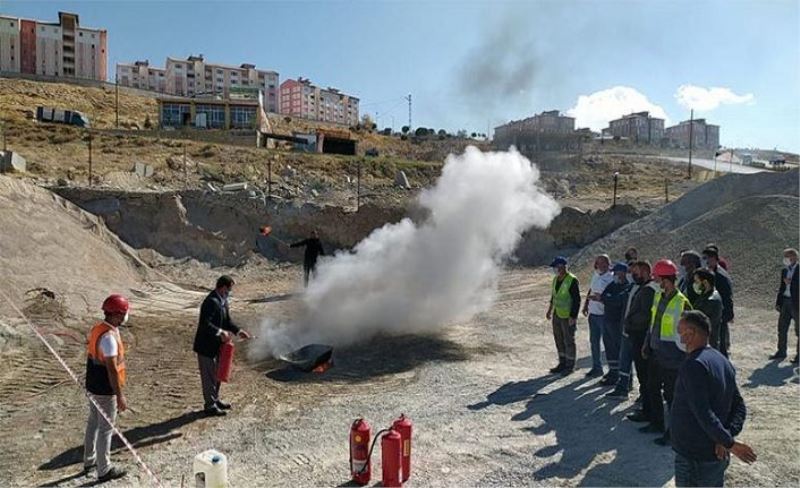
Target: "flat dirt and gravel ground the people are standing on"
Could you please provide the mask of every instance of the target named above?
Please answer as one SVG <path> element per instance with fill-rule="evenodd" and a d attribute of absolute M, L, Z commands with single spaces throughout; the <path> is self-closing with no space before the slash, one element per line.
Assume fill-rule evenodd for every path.
<path fill-rule="evenodd" d="M 210 283 L 219 272 L 161 271 L 195 284 Z M 237 278 L 233 314 L 246 327 L 257 330 L 259 318 L 292 314 L 298 268 L 250 267 Z M 585 320 L 578 333 L 581 370 L 566 378 L 547 374 L 556 361 L 544 318 L 548 283 L 542 270 L 508 270 L 486 313 L 439 334 L 338 350 L 336 365 L 321 375 L 293 373 L 278 362 L 247 364 L 242 344 L 233 382 L 223 386 L 234 409 L 213 419 L 197 412 L 200 385 L 191 352 L 205 291 L 157 283 L 132 294 L 134 315 L 124 337 L 135 412 L 118 424 L 164 486 L 191 486 L 192 459 L 208 448 L 228 455 L 232 486 L 346 484 L 352 420 L 365 417 L 375 432 L 400 413 L 415 428 L 409 486 L 671 485 L 671 450 L 624 419 L 632 401 L 609 401 L 606 388 L 583 377 Z M 740 439 L 759 461 L 732 461 L 729 485 L 800 481 L 797 370 L 766 360 L 776 320 L 770 304 L 737 310 L 732 354 L 748 407 Z M 47 331 L 79 374 L 81 335 L 90 323 Z M 91 484 L 93 476 L 79 473 L 86 400 L 26 326 L 6 321 L 4 327 L 15 334 L 0 373 L 0 484 Z M 149 485 L 127 452 L 113 457 L 130 474 L 109 486 Z M 376 452 L 373 484 L 380 480 L 379 457 Z"/>

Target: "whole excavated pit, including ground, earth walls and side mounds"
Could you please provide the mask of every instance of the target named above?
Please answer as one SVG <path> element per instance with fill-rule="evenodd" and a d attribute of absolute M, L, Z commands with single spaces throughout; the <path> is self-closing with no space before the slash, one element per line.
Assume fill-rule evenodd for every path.
<path fill-rule="evenodd" d="M 415 429 L 410 486 L 672 485 L 672 451 L 625 419 L 634 395 L 611 401 L 608 388 L 584 378 L 585 318 L 578 321 L 581 369 L 567 377 L 547 373 L 557 357 L 545 318 L 552 274 L 542 265 L 554 253 L 568 254 L 586 283 L 601 251 L 620 258 L 633 245 L 655 260 L 711 241 L 732 263 L 731 350 L 748 407 L 740 438 L 759 455 L 749 466 L 732 461 L 726 481 L 800 481 L 800 423 L 792 421 L 798 372 L 766 359 L 774 351 L 780 253 L 798 247 L 797 171 L 721 177 L 646 214 L 621 209 L 591 220 L 562 210 L 548 230 L 525 233 L 500 268 L 490 305 L 442 327 L 337 346 L 334 366 L 322 374 L 253 360 L 256 342 L 237 343 L 233 379 L 222 387 L 234 408 L 225 418 L 205 418 L 192 339 L 216 277 L 235 277 L 233 317 L 256 334 L 265 318 L 291 321 L 306 305 L 300 256 L 280 246 L 267 257 L 253 252 L 260 225 L 272 225 L 284 242 L 319 228 L 346 253 L 384 224 L 428 218 L 414 208 L 353 213 L 245 200 L 51 191 L 0 177 L 3 485 L 92 483 L 93 474 L 82 472 L 83 390 L 16 308 L 82 381 L 85 335 L 109 290 L 128 295 L 133 307 L 122 332 L 131 409 L 118 426 L 163 486 L 191 486 L 194 456 L 212 448 L 228 456 L 231 486 L 346 485 L 352 421 L 363 417 L 377 430 L 401 413 Z M 588 219 L 585 231 L 563 230 L 580 219 Z M 607 228 L 592 225 L 606 220 Z M 155 483 L 118 439 L 114 445 L 112 458 L 129 474 L 108 486 Z M 375 482 L 380 462 L 373 463 Z"/>

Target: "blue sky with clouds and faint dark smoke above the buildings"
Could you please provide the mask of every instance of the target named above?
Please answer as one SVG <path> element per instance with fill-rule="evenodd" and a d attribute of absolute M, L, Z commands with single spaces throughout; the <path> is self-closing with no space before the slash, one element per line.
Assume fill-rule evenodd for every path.
<path fill-rule="evenodd" d="M 360 97 L 381 127 L 407 123 L 409 93 L 414 126 L 470 132 L 549 109 L 598 128 L 648 108 L 675 123 L 695 107 L 723 145 L 797 152 L 799 4 L 3 0 L 0 12 L 77 12 L 108 29 L 110 72 L 202 53 L 309 77 Z"/>

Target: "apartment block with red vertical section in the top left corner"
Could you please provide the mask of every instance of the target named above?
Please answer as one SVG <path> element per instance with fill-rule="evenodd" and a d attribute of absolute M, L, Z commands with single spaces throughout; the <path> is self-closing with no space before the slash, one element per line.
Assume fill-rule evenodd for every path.
<path fill-rule="evenodd" d="M 58 22 L 0 16 L 0 71 L 105 81 L 108 33 L 81 27 L 77 14 Z"/>

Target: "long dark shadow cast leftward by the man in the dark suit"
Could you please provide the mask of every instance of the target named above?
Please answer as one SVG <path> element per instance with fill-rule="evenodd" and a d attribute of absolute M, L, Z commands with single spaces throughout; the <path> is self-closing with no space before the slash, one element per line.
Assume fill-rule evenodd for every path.
<path fill-rule="evenodd" d="M 203 412 L 201 411 L 186 412 L 177 417 L 173 417 L 171 419 L 164 420 L 156 424 L 144 425 L 142 427 L 134 427 L 133 429 L 129 429 L 123 432 L 123 434 L 130 441 L 130 443 L 133 444 L 133 447 L 142 448 L 146 446 L 151 446 L 153 444 L 160 444 L 162 442 L 166 442 L 180 437 L 183 434 L 181 434 L 180 432 L 174 432 L 175 429 L 179 429 L 184 425 L 190 424 L 203 417 L 204 415 Z M 120 450 L 122 448 L 123 448 L 122 441 L 120 441 L 119 438 L 115 436 L 113 442 L 111 443 L 112 452 Z M 51 471 L 82 462 L 83 462 L 83 445 L 80 445 L 67 449 L 66 451 L 57 455 L 53 459 L 39 466 L 38 469 L 40 471 L 43 470 Z M 59 483 L 63 481 L 64 480 L 59 480 Z"/>

